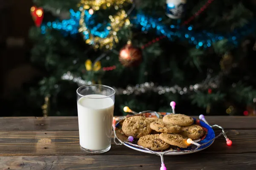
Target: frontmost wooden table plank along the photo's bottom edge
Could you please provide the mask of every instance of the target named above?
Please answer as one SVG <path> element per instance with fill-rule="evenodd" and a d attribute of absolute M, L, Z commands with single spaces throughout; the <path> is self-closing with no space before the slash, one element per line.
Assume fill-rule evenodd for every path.
<path fill-rule="evenodd" d="M 165 156 L 168 170 L 255 170 L 256 153 Z M 239 159 L 238 159 L 239 158 Z M 0 169 L 25 170 L 159 170 L 156 155 L 3 156 Z"/>

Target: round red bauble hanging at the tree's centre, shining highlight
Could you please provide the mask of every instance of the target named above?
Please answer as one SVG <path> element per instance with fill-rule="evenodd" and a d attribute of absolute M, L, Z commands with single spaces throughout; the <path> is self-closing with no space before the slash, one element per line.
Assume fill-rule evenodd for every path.
<path fill-rule="evenodd" d="M 142 51 L 140 48 L 127 44 L 120 50 L 119 61 L 125 67 L 138 66 L 142 62 Z"/>

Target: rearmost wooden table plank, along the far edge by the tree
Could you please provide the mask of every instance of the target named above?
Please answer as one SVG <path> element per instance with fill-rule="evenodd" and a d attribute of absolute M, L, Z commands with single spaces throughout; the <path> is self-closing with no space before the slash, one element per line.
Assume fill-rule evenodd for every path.
<path fill-rule="evenodd" d="M 195 116 L 198 118 L 198 116 Z M 210 125 L 225 129 L 256 129 L 256 116 L 206 116 Z M 76 116 L 59 117 L 0 117 L 0 131 L 78 130 Z"/>

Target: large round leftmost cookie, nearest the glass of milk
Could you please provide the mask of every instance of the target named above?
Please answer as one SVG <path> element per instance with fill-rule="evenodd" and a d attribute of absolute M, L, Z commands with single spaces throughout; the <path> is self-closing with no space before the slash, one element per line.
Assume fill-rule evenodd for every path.
<path fill-rule="evenodd" d="M 126 136 L 133 136 L 139 139 L 151 133 L 150 122 L 143 116 L 131 116 L 125 119 L 122 124 L 122 131 Z"/>

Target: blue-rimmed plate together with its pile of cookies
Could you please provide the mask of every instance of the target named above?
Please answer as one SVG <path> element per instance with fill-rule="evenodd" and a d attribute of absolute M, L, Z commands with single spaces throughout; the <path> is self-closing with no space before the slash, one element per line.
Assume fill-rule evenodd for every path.
<path fill-rule="evenodd" d="M 195 153 L 209 147 L 215 139 L 208 123 L 184 114 L 144 111 L 115 121 L 113 127 L 120 144 L 157 155 Z"/>

